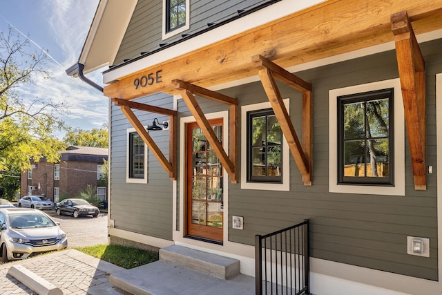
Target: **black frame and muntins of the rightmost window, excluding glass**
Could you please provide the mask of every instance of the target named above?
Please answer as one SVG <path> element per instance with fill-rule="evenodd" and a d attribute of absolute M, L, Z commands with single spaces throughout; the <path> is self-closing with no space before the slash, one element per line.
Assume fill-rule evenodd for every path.
<path fill-rule="evenodd" d="M 394 88 L 386 88 L 376 91 L 368 91 L 364 93 L 355 93 L 351 95 L 342 95 L 337 97 L 338 103 L 338 184 L 360 184 L 372 186 L 394 186 Z M 375 138 L 388 138 L 388 176 L 370 177 L 358 176 L 351 177 L 344 175 L 345 155 L 344 155 L 344 105 L 356 102 L 370 102 L 377 99 L 388 98 L 388 136 L 372 137 L 367 139 L 364 132 L 364 140 L 373 140 Z M 366 122 L 366 117 L 365 117 Z M 367 124 L 365 123 L 365 126 Z M 364 127 L 365 129 L 365 127 Z M 367 156 L 367 144 L 365 144 L 365 156 Z M 365 161 L 365 169 L 367 169 L 367 161 Z"/>

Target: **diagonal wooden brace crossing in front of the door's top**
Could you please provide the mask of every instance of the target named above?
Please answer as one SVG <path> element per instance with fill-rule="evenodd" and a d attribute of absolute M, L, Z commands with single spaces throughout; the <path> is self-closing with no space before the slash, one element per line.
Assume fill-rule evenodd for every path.
<path fill-rule="evenodd" d="M 236 169 L 235 164 L 231 161 L 231 159 L 227 156 L 227 153 L 222 148 L 222 145 L 218 138 L 215 135 L 212 127 L 210 126 L 209 121 L 206 119 L 200 105 L 196 101 L 193 93 L 189 90 L 182 90 L 181 92 L 182 99 L 186 103 L 189 111 L 191 111 L 193 117 L 195 117 L 198 126 L 200 126 L 202 133 L 206 137 L 207 141 L 213 147 L 213 152 L 218 156 L 222 166 L 226 169 L 227 173 L 230 175 L 231 182 L 236 183 Z"/>

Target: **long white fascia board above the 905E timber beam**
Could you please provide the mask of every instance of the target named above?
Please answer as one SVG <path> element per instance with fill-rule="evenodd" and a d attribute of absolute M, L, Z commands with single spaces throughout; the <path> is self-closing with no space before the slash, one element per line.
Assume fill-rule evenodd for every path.
<path fill-rule="evenodd" d="M 116 80 L 119 80 L 121 77 L 130 75 L 131 73 L 154 66 L 155 64 L 160 64 L 180 55 L 191 53 L 193 50 L 197 50 L 204 46 L 209 46 L 210 44 L 215 44 L 218 41 L 222 41 L 234 35 L 240 34 L 241 32 L 262 26 L 265 23 L 270 23 L 271 21 L 281 19 L 282 17 L 294 14 L 295 12 L 305 10 L 306 8 L 315 6 L 321 2 L 324 2 L 324 0 L 282 0 L 268 6 L 267 8 L 262 8 L 257 12 L 251 13 L 250 15 L 241 17 L 236 21 L 231 21 L 224 26 L 220 26 L 202 35 L 198 35 L 187 41 L 183 41 L 180 44 L 161 50 L 159 53 L 148 55 L 142 59 L 133 61 L 126 66 L 115 68 L 115 70 L 104 73 L 103 83 L 110 84 Z"/>

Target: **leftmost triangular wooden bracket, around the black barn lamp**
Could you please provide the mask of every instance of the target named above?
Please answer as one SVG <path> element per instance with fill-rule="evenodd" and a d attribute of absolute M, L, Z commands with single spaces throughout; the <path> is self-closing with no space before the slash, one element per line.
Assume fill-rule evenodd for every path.
<path fill-rule="evenodd" d="M 177 179 L 177 136 L 176 136 L 176 124 L 177 124 L 177 112 L 169 110 L 167 108 L 160 108 L 158 106 L 149 106 L 147 104 L 140 104 L 138 102 L 131 102 L 124 99 L 113 98 L 115 106 L 122 108 L 122 113 L 131 122 L 137 133 L 142 137 L 142 140 L 151 149 L 155 158 L 163 166 L 164 170 L 169 172 L 171 180 Z M 159 113 L 162 115 L 169 115 L 169 160 L 166 159 L 160 148 L 155 144 L 151 135 L 144 129 L 143 124 L 138 120 L 137 116 L 133 113 L 131 108 L 135 108 L 140 111 L 148 111 L 151 113 Z"/>

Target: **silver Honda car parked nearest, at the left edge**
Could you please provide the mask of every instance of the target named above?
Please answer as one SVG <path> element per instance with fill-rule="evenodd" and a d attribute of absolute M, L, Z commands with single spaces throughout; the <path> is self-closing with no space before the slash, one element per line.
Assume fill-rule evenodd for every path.
<path fill-rule="evenodd" d="M 0 209 L 1 262 L 66 247 L 66 234 L 46 213 L 37 209 Z"/>

